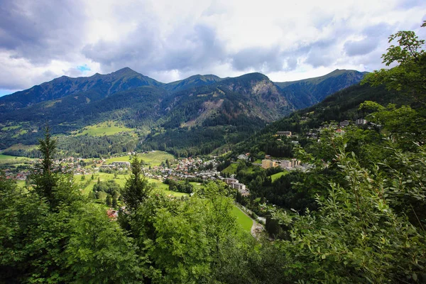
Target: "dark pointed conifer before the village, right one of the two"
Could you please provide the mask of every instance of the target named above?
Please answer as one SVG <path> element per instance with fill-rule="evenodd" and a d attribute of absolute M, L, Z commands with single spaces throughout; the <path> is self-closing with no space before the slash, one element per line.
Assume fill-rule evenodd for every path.
<path fill-rule="evenodd" d="M 133 156 L 130 162 L 131 177 L 126 180 L 124 189 L 121 190 L 121 196 L 130 212 L 136 212 L 136 209 L 143 203 L 153 190 L 153 186 L 148 183 L 142 172 L 142 160 L 137 155 Z"/>

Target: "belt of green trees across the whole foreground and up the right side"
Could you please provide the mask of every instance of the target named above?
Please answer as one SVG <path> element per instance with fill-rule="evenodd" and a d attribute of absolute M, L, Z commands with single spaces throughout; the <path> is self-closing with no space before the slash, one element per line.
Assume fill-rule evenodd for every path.
<path fill-rule="evenodd" d="M 250 198 L 263 199 L 258 211 L 275 230 L 274 241 L 238 230 L 234 195 L 224 183 L 193 188 L 192 197 L 166 197 L 148 183 L 136 156 L 124 188 L 99 183 L 94 190 L 126 204 L 110 221 L 102 204 L 55 172 L 58 141 L 46 129 L 33 187 L 0 178 L 0 282 L 425 283 L 425 41 L 408 31 L 390 39 L 398 45 L 383 60 L 398 65 L 364 82 L 384 84 L 411 105 L 363 102 L 356 111 L 372 124 L 342 134 L 316 121 L 320 140 L 290 149 L 278 148 L 285 141 L 258 143 L 262 136 L 239 145 L 281 149 L 310 165 L 272 182 L 271 173 L 239 164 L 237 177 L 249 185 Z"/>

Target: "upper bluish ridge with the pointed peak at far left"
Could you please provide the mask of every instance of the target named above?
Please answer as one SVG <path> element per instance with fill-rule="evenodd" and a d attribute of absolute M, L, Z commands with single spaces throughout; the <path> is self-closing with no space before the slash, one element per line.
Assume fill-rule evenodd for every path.
<path fill-rule="evenodd" d="M 71 78 L 62 76 L 50 82 L 36 85 L 30 89 L 15 92 L 0 97 L 0 111 L 21 109 L 39 102 L 60 99 L 70 94 L 94 91 L 107 97 L 116 92 L 125 91 L 141 86 L 160 87 L 163 83 L 150 77 L 143 76 L 136 71 L 125 67 L 107 75 L 95 74 L 90 77 Z"/>

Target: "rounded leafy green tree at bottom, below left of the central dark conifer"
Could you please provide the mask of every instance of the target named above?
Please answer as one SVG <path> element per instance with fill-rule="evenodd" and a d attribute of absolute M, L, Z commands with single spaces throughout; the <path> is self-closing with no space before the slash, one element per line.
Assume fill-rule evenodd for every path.
<path fill-rule="evenodd" d="M 139 268 L 135 247 L 104 209 L 88 204 L 70 221 L 64 251 L 75 283 L 132 283 Z"/>

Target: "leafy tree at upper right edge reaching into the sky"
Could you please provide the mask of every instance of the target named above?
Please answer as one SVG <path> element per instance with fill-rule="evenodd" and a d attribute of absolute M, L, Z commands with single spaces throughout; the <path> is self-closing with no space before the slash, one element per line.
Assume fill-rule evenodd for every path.
<path fill-rule="evenodd" d="M 426 26 L 426 21 L 422 27 Z M 395 89 L 426 104 L 426 51 L 425 40 L 420 40 L 413 31 L 398 31 L 389 37 L 389 43 L 396 40 L 398 45 L 391 45 L 382 55 L 386 66 L 397 66 L 386 70 L 375 70 L 366 75 L 361 84 L 372 86 L 385 84 L 387 89 Z"/>

